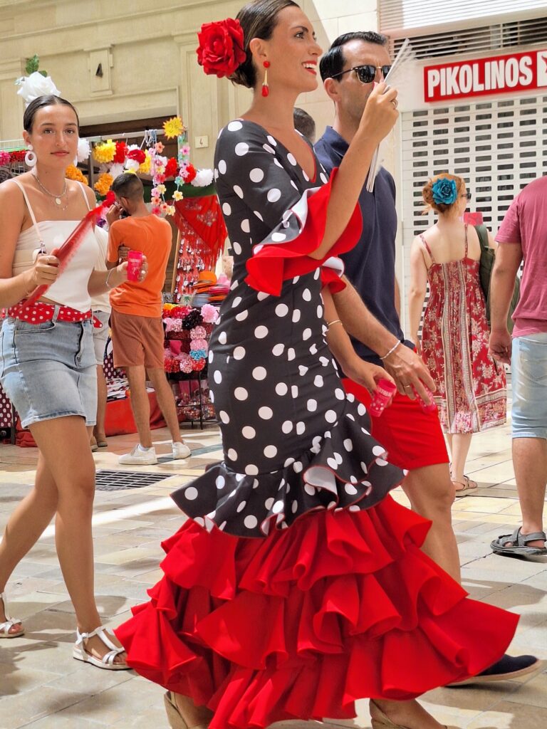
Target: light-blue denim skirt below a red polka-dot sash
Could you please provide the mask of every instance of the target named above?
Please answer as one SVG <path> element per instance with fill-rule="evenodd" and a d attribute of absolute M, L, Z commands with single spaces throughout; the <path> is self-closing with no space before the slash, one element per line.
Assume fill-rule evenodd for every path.
<path fill-rule="evenodd" d="M 97 370 L 91 320 L 29 324 L 4 319 L 0 382 L 26 428 L 53 418 L 97 416 Z"/>

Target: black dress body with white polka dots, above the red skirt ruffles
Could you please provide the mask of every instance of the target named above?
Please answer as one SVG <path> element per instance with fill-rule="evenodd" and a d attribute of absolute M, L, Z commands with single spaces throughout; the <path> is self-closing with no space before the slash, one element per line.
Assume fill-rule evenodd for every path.
<path fill-rule="evenodd" d="M 244 537 L 310 510 L 368 508 L 403 473 L 368 433 L 325 342 L 321 262 L 306 255 L 318 245 L 314 216 L 325 217 L 325 171 L 316 160 L 310 180 L 246 120 L 220 133 L 215 168 L 234 257 L 209 353 L 225 459 L 174 499 L 198 523 Z M 342 270 L 332 257 L 325 265 Z"/>

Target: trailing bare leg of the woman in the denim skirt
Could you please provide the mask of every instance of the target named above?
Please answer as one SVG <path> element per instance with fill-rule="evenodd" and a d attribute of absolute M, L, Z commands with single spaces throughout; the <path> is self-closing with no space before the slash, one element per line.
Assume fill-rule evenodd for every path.
<path fill-rule="evenodd" d="M 39 453 L 34 487 L 9 517 L 0 542 L 0 592 L 4 592 L 13 570 L 34 547 L 56 509 L 57 487 L 42 453 Z M 0 623 L 5 619 L 4 605 L 0 601 Z M 13 625 L 9 632 L 15 633 L 19 629 L 19 624 Z"/>

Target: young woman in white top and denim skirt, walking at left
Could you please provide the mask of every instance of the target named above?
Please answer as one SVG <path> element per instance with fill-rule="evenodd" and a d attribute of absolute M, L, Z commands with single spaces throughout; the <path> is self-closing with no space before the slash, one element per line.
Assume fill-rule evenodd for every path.
<path fill-rule="evenodd" d="M 93 192 L 65 179 L 78 144 L 78 117 L 68 101 L 42 96 L 25 112 L 23 136 L 34 170 L 0 187 L 0 378 L 39 448 L 36 482 L 9 518 L 0 543 L 0 639 L 23 634 L 7 615 L 4 594 L 15 566 L 55 517 L 55 544 L 77 617 L 74 658 L 100 668 L 128 668 L 101 626 L 93 595 L 91 517 L 95 464 L 96 362 L 90 295 L 127 280 L 124 263 L 94 270 L 98 245 L 85 235 L 61 276 L 52 251 L 95 204 Z M 144 267 L 145 268 L 145 267 Z M 144 278 L 145 271 L 141 272 Z M 50 286 L 32 308 L 24 300 Z"/>

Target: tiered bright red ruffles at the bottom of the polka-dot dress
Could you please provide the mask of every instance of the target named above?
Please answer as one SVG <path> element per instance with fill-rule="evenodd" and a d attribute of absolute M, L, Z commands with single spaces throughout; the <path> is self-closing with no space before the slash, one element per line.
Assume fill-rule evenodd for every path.
<path fill-rule="evenodd" d="M 148 679 L 206 704 L 212 729 L 354 717 L 500 658 L 518 616 L 466 598 L 419 549 L 429 523 L 389 498 L 265 539 L 189 521 L 165 576 L 116 634 Z"/>

